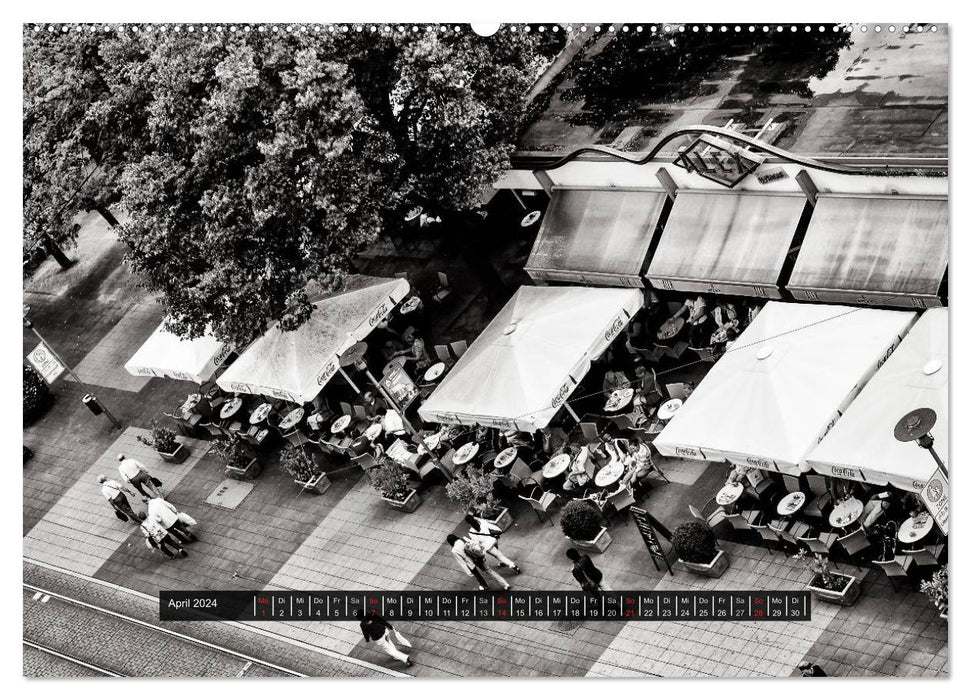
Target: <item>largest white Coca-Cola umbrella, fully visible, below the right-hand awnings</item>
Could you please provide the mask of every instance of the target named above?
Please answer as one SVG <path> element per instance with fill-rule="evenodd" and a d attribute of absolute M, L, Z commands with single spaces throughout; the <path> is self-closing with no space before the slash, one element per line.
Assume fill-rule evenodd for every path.
<path fill-rule="evenodd" d="M 883 364 L 916 314 L 769 302 L 654 441 L 661 454 L 785 474 Z"/>

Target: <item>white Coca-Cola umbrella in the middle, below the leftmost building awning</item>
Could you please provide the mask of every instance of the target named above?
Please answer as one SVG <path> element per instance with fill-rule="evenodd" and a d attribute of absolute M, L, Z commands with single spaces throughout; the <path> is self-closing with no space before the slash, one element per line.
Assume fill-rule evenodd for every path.
<path fill-rule="evenodd" d="M 418 415 L 435 423 L 539 430 L 643 303 L 637 289 L 521 287 Z"/>

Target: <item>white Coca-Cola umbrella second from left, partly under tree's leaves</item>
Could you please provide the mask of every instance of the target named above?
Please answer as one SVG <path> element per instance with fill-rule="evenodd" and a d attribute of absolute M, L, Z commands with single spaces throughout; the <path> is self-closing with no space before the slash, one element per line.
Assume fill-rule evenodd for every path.
<path fill-rule="evenodd" d="M 216 383 L 230 392 L 310 401 L 337 373 L 340 354 L 364 340 L 409 290 L 403 279 L 351 278 L 343 291 L 314 301 L 296 330 L 271 327 Z"/>

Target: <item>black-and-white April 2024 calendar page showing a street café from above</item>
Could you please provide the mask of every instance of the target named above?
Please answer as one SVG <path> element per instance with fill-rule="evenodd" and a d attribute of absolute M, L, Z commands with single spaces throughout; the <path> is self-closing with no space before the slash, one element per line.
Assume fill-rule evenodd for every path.
<path fill-rule="evenodd" d="M 315 11 L 22 24 L 27 689 L 949 678 L 954 27 Z"/>

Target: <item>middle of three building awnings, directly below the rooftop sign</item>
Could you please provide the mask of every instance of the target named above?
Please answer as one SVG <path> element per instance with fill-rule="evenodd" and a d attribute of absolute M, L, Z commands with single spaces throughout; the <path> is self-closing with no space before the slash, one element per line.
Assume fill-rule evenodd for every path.
<path fill-rule="evenodd" d="M 679 192 L 647 279 L 658 289 L 779 299 L 779 273 L 806 198 Z"/>

